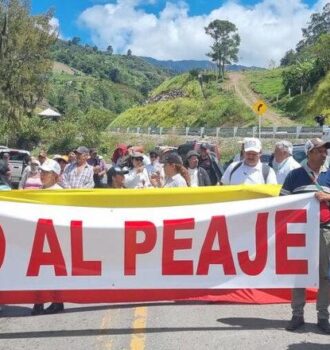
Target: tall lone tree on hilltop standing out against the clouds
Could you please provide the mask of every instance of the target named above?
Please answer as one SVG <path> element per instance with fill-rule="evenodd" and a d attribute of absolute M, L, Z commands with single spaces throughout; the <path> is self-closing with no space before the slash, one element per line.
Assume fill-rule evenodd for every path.
<path fill-rule="evenodd" d="M 219 19 L 211 22 L 206 28 L 205 33 L 214 40 L 211 46 L 211 52 L 207 56 L 212 58 L 219 69 L 219 76 L 224 78 L 225 65 L 238 61 L 238 48 L 240 36 L 237 33 L 235 24 L 229 21 Z"/>

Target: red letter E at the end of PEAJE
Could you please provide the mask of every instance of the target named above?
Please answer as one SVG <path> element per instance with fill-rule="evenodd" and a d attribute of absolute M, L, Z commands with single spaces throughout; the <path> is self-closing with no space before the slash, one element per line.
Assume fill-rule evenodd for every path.
<path fill-rule="evenodd" d="M 305 247 L 306 236 L 303 233 L 288 233 L 289 223 L 306 223 L 306 209 L 282 210 L 276 212 L 276 273 L 279 275 L 308 273 L 307 260 L 288 259 L 289 247 Z"/>

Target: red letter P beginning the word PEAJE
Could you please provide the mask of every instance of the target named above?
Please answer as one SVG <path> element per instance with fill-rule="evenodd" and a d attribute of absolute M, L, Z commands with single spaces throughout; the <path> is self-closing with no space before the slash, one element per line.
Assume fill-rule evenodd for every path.
<path fill-rule="evenodd" d="M 145 240 L 137 242 L 137 232 L 144 232 Z M 125 222 L 125 275 L 136 275 L 136 256 L 152 251 L 156 244 L 156 226 L 150 221 Z"/>

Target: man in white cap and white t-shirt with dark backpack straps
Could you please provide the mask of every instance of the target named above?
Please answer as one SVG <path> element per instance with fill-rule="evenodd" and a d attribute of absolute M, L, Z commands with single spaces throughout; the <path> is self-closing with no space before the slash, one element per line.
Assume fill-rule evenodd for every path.
<path fill-rule="evenodd" d="M 243 161 L 229 165 L 221 178 L 222 185 L 276 184 L 276 175 L 268 164 L 261 163 L 261 142 L 257 138 L 244 139 Z"/>

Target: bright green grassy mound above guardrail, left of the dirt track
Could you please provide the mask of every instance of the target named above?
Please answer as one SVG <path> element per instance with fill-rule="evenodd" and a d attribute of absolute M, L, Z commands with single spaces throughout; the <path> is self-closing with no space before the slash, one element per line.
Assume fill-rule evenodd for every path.
<path fill-rule="evenodd" d="M 110 127 L 185 127 L 254 125 L 253 112 L 230 91 L 204 74 L 200 84 L 194 74 L 182 74 L 163 82 L 150 93 L 148 103 L 120 114 Z"/>

